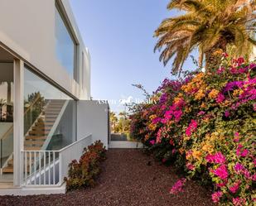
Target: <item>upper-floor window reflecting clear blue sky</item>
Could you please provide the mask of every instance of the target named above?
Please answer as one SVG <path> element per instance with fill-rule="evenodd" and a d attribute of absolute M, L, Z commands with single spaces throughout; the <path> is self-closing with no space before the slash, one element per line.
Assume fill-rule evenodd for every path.
<path fill-rule="evenodd" d="M 75 41 L 56 7 L 56 56 L 72 78 L 75 76 L 75 50 Z"/>

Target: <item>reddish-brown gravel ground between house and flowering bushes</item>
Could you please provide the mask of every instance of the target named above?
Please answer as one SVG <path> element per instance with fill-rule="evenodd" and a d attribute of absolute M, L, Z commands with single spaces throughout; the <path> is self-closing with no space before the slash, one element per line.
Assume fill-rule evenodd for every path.
<path fill-rule="evenodd" d="M 185 191 L 169 194 L 178 176 L 171 168 L 160 165 L 142 151 L 111 149 L 103 163 L 99 184 L 93 189 L 80 189 L 67 194 L 37 196 L 2 196 L 0 205 L 120 205 L 120 206 L 201 206 L 213 205 L 208 191 L 193 182 L 186 182 Z"/>

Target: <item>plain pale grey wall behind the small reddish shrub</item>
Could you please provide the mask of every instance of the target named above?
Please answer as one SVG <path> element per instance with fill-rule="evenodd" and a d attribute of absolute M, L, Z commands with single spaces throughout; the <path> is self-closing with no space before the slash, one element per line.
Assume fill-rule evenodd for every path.
<path fill-rule="evenodd" d="M 93 141 L 100 140 L 108 149 L 109 124 L 107 103 L 79 101 L 77 104 L 77 139 L 92 134 Z"/>

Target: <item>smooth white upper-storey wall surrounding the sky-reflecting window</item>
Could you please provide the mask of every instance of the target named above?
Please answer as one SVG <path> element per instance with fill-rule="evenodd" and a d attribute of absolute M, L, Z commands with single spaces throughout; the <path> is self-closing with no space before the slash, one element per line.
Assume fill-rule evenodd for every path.
<path fill-rule="evenodd" d="M 66 14 L 79 41 L 78 66 L 81 74 L 82 51 L 89 60 L 89 52 L 80 37 L 75 17 L 68 0 L 62 0 Z M 13 50 L 22 60 L 54 80 L 76 98 L 89 99 L 90 89 L 70 78 L 56 58 L 55 1 L 54 0 L 0 0 L 0 41 Z M 88 65 L 88 64 L 85 64 Z M 86 68 L 89 71 L 89 68 Z M 81 82 L 81 75 L 78 83 Z M 89 83 L 89 72 L 85 82 Z"/>

